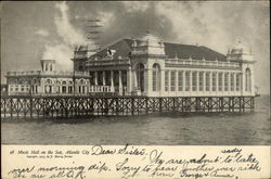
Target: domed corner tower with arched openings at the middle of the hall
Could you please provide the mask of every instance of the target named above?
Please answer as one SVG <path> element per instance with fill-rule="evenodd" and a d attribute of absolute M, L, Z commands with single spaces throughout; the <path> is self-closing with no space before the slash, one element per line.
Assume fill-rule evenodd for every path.
<path fill-rule="evenodd" d="M 159 95 L 164 89 L 165 69 L 164 42 L 150 31 L 139 41 L 133 40 L 131 66 L 134 72 L 134 87 L 144 95 Z"/>

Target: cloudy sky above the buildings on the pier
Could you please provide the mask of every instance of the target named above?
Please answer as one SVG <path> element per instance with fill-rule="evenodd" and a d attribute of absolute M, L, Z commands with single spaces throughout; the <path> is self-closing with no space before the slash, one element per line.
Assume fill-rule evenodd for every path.
<path fill-rule="evenodd" d="M 88 20 L 101 20 L 103 47 L 151 31 L 166 42 L 199 44 L 225 54 L 236 39 L 251 49 L 256 85 L 270 93 L 268 1 L 2 2 L 1 82 L 9 71 L 39 71 L 41 59 L 72 71 L 73 49 L 86 44 Z"/>

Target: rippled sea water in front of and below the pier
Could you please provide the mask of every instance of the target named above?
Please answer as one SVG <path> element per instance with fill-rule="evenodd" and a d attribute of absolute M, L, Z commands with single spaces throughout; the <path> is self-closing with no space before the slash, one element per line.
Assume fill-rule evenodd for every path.
<path fill-rule="evenodd" d="M 269 145 L 270 95 L 254 113 L 152 114 L 78 123 L 2 122 L 2 144 Z"/>

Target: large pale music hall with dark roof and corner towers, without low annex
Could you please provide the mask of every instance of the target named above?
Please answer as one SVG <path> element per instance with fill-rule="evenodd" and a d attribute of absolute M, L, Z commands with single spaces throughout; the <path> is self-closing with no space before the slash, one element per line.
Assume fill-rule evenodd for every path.
<path fill-rule="evenodd" d="M 255 95 L 254 57 L 241 41 L 221 54 L 203 46 L 163 42 L 147 34 L 98 52 L 75 49 L 74 67 L 90 86 L 146 97 Z M 89 88 L 89 92 L 93 88 Z"/>

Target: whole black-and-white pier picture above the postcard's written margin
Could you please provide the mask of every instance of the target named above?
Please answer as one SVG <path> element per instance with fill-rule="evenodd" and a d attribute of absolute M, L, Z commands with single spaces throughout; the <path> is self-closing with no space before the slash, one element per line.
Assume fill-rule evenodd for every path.
<path fill-rule="evenodd" d="M 2 145 L 271 144 L 269 1 L 0 11 Z"/>

